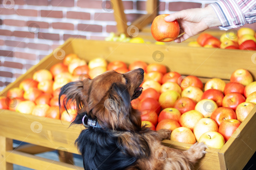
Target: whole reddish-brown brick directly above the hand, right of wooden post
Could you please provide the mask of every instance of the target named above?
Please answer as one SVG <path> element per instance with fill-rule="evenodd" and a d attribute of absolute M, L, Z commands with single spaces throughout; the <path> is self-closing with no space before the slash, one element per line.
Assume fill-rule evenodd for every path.
<path fill-rule="evenodd" d="M 181 11 L 183 9 L 200 8 L 201 3 L 192 2 L 170 2 L 169 11 Z"/>

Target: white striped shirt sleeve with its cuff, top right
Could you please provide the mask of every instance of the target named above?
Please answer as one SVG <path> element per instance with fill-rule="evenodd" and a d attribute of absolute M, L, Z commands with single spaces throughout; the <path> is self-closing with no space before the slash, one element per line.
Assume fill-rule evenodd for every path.
<path fill-rule="evenodd" d="M 220 0 L 209 6 L 216 12 L 223 30 L 256 22 L 255 0 Z"/>

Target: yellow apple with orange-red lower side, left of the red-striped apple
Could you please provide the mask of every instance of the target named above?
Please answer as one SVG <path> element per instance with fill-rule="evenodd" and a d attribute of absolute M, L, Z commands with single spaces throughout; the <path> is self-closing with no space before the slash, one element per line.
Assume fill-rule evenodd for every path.
<path fill-rule="evenodd" d="M 159 104 L 161 105 L 162 109 L 173 107 L 174 103 L 177 99 L 180 98 L 180 94 L 173 90 L 168 90 L 163 92 L 159 96 Z"/>

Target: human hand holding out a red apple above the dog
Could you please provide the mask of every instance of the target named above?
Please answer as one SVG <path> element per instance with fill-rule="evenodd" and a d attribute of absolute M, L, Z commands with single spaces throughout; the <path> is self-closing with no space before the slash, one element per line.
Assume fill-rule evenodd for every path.
<path fill-rule="evenodd" d="M 174 40 L 176 43 L 181 43 L 208 28 L 221 25 L 215 11 L 210 6 L 185 9 L 165 17 L 165 21 L 172 22 L 174 20 L 177 20 L 180 25 L 180 34 L 184 33 Z"/>

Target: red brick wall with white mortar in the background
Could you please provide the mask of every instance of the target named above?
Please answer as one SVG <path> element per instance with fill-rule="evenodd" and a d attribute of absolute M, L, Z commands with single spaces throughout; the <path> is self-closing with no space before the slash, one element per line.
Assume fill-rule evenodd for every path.
<path fill-rule="evenodd" d="M 204 7 L 216 0 L 159 0 L 159 14 Z M 116 31 L 102 0 L 1 0 L 0 88 L 37 64 L 69 37 L 102 40 Z M 145 14 L 146 0 L 123 0 L 128 24 Z"/>

